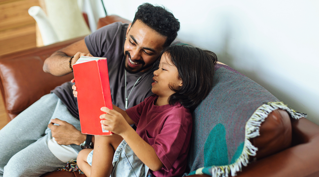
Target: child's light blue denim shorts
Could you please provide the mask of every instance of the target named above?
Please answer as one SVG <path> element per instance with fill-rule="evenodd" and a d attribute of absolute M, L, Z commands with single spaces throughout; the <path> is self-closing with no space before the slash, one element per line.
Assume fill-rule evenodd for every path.
<path fill-rule="evenodd" d="M 87 163 L 92 166 L 93 150 L 87 156 Z M 152 177 L 149 172 L 149 167 L 146 166 L 135 153 L 125 140 L 117 147 L 113 157 L 113 171 L 112 177 L 125 176 L 125 177 Z"/>

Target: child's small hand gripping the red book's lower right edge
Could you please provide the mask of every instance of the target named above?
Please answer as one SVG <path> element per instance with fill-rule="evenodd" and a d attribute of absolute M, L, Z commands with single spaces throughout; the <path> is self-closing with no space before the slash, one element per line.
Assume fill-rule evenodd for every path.
<path fill-rule="evenodd" d="M 109 130 L 115 134 L 122 135 L 131 126 L 126 122 L 123 115 L 114 109 L 109 109 L 107 107 L 101 107 L 101 111 L 107 113 L 100 115 L 101 123 L 103 129 Z M 105 120 L 103 120 L 105 119 Z"/>

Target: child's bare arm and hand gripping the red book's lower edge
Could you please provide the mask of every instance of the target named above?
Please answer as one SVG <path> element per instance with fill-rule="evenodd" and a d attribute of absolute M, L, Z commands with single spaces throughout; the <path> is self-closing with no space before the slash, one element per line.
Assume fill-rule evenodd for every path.
<path fill-rule="evenodd" d="M 126 114 L 126 112 L 118 112 L 116 111 L 117 108 L 114 109 L 114 106 L 113 110 L 107 107 L 101 108 L 103 112 L 107 113 L 100 116 L 101 119 L 105 119 L 101 120 L 101 123 L 104 124 L 102 128 L 122 136 L 137 157 L 152 171 L 160 170 L 164 165 L 157 156 L 154 148 L 150 144 L 146 143 L 130 126 L 129 121 L 133 121 Z M 122 109 L 120 109 L 120 111 L 121 110 Z M 123 114 L 127 118 L 124 118 Z"/>

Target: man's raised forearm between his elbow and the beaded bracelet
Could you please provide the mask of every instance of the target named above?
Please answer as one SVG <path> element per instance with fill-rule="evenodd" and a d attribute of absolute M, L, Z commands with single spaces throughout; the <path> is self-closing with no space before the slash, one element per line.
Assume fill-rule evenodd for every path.
<path fill-rule="evenodd" d="M 43 71 L 55 76 L 64 76 L 72 72 L 69 68 L 70 56 L 56 51 L 43 63 Z"/>

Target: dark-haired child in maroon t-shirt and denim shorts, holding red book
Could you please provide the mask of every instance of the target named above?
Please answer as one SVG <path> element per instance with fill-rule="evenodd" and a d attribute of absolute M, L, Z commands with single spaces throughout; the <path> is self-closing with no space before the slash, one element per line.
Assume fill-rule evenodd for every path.
<path fill-rule="evenodd" d="M 95 136 L 94 151 L 80 151 L 78 167 L 87 177 L 182 176 L 192 132 L 190 110 L 210 92 L 216 63 L 213 52 L 189 45 L 164 49 L 154 71 L 154 94 L 126 111 L 102 107 L 107 113 L 100 116 L 103 129 L 115 134 Z"/>

